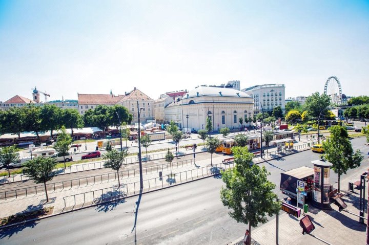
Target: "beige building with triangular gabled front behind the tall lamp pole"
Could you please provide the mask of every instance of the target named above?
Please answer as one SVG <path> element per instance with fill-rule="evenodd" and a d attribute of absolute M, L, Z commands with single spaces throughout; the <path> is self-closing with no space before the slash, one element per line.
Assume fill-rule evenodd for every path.
<path fill-rule="evenodd" d="M 139 103 L 139 108 L 142 108 L 140 113 L 140 121 L 145 123 L 147 120 L 153 120 L 154 100 L 142 93 L 136 87 L 134 87 L 131 92 L 125 93 L 125 95 L 122 96 L 117 104 L 125 106 L 129 110 L 129 113 L 132 114 L 132 123 L 136 123 L 138 122 L 137 101 Z"/>

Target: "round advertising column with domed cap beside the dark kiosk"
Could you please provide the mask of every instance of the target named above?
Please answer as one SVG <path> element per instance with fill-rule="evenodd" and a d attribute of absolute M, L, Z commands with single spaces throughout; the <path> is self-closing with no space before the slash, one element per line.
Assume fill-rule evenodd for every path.
<path fill-rule="evenodd" d="M 314 164 L 313 205 L 320 209 L 330 209 L 330 170 L 332 163 L 320 158 Z"/>

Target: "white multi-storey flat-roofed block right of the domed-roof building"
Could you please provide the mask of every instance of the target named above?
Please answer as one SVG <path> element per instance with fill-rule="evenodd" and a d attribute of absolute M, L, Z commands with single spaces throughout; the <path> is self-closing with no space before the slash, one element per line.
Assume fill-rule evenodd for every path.
<path fill-rule="evenodd" d="M 276 106 L 284 112 L 284 88 L 284 84 L 263 84 L 244 88 L 242 92 L 253 97 L 255 114 L 261 113 L 261 106 L 264 112 L 271 113 Z"/>

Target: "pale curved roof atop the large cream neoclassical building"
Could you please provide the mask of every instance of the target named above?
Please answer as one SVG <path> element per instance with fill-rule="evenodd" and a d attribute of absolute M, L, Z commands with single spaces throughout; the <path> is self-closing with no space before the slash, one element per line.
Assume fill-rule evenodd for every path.
<path fill-rule="evenodd" d="M 188 97 L 187 97 L 188 96 Z M 226 87 L 209 87 L 199 86 L 194 90 L 191 90 L 187 96 L 183 96 L 182 99 L 193 98 L 198 96 L 219 96 L 219 97 L 241 97 L 241 98 L 252 98 L 250 95 L 235 90 L 233 88 Z"/>

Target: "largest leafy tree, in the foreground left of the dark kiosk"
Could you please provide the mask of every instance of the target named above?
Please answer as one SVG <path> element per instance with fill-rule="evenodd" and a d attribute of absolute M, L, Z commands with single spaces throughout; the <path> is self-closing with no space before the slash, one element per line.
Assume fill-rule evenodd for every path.
<path fill-rule="evenodd" d="M 251 236 L 251 227 L 267 222 L 267 215 L 279 212 L 280 203 L 273 192 L 276 185 L 267 179 L 270 175 L 267 169 L 256 164 L 250 167 L 252 153 L 247 149 L 234 152 L 236 167 L 223 172 L 222 180 L 226 186 L 220 190 L 220 199 L 231 209 L 229 215 L 233 219 L 249 224 Z"/>

